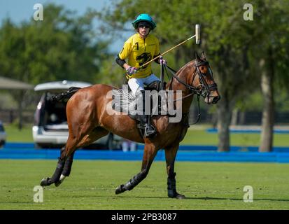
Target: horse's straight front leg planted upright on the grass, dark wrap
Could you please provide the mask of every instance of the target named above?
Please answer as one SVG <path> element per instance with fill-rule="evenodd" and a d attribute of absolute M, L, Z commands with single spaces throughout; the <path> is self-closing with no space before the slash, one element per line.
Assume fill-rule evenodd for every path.
<path fill-rule="evenodd" d="M 178 151 L 178 144 L 170 148 L 165 148 L 166 163 L 167 163 L 167 194 L 169 197 L 183 199 L 185 195 L 176 192 L 176 173 L 174 172 L 174 164 L 176 160 L 176 153 Z"/>

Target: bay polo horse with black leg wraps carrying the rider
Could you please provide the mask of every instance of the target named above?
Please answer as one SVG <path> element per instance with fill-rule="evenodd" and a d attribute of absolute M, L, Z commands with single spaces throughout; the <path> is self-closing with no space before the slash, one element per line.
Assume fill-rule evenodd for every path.
<path fill-rule="evenodd" d="M 41 186 L 50 186 L 55 183 L 59 186 L 71 172 L 73 155 L 76 148 L 92 144 L 97 139 L 104 137 L 108 132 L 120 137 L 145 144 L 141 172 L 132 177 L 127 183 L 116 188 L 115 194 L 132 190 L 148 175 L 157 151 L 165 151 L 167 164 L 167 190 L 168 197 L 182 199 L 184 195 L 176 191 L 176 173 L 174 162 L 180 142 L 188 130 L 188 112 L 194 94 L 202 95 L 206 104 L 216 104 L 220 99 L 217 84 L 213 80 L 213 72 L 206 60 L 204 52 L 179 69 L 169 81 L 166 90 L 182 91 L 182 119 L 178 123 L 169 123 L 168 116 L 152 116 L 152 124 L 157 130 L 153 138 L 143 138 L 139 134 L 136 121 L 127 115 L 109 115 L 106 111 L 108 99 L 106 94 L 113 87 L 96 84 L 90 87 L 67 91 L 62 97 L 70 97 L 66 104 L 66 116 L 69 127 L 69 137 L 66 145 L 60 151 L 57 168 L 51 178 L 42 179 Z M 174 96 L 175 97 L 175 96 Z M 174 99 L 178 100 L 178 99 Z M 125 124 L 125 125 L 123 125 Z"/>

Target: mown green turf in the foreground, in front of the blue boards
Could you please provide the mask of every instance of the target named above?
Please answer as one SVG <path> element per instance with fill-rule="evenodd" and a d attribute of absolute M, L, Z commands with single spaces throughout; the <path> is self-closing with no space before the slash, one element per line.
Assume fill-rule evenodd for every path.
<path fill-rule="evenodd" d="M 289 165 L 269 163 L 176 162 L 179 193 L 167 197 L 164 162 L 129 192 L 115 187 L 139 172 L 141 162 L 75 160 L 62 186 L 46 187 L 34 203 L 34 186 L 55 170 L 56 160 L 0 160 L 0 209 L 289 209 Z M 244 186 L 253 202 L 243 201 Z"/>

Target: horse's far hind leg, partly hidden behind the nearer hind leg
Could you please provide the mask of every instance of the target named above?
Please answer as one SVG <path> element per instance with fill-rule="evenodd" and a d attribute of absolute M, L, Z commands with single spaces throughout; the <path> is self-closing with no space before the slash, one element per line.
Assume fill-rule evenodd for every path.
<path fill-rule="evenodd" d="M 83 139 L 78 143 L 76 148 L 88 146 L 88 145 L 92 144 L 94 141 L 96 141 L 97 139 L 104 137 L 106 134 L 108 134 L 107 130 L 104 130 L 101 127 L 96 127 L 96 128 L 94 128 L 94 130 L 92 130 L 92 132 L 90 132 L 90 134 L 87 134 L 85 137 L 83 137 Z M 64 151 L 64 150 L 65 150 L 65 147 L 62 148 L 62 151 Z M 64 181 L 64 179 L 67 176 L 69 176 L 69 174 L 71 172 L 72 163 L 73 163 L 74 153 L 75 153 L 75 151 L 73 153 L 71 153 L 68 156 L 68 158 L 66 159 L 62 174 L 59 178 L 59 181 L 55 182 L 55 186 L 58 187 Z"/>

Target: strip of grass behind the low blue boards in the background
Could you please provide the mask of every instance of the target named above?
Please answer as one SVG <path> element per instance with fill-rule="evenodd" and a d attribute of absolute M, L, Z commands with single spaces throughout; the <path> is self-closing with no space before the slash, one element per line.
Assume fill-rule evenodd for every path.
<path fill-rule="evenodd" d="M 197 128 L 196 128 L 197 127 Z M 192 125 L 188 130 L 183 145 L 209 145 L 218 144 L 218 134 L 206 132 L 205 126 Z M 26 125 L 21 131 L 13 125 L 6 125 L 7 141 L 9 142 L 33 142 L 31 126 Z M 232 146 L 259 146 L 260 134 L 258 133 L 232 133 L 230 134 Z M 288 146 L 289 134 L 274 134 L 274 146 Z"/>

